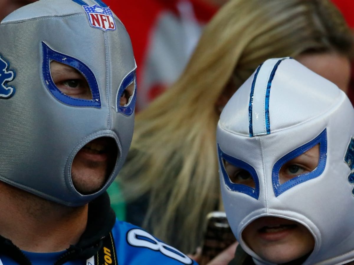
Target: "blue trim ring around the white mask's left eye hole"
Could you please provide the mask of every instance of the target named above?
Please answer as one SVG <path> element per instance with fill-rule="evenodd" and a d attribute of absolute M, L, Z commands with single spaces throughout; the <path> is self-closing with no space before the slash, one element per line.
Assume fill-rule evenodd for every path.
<path fill-rule="evenodd" d="M 259 198 L 259 180 L 258 180 L 256 170 L 251 165 L 247 164 L 246 162 L 225 154 L 221 150 L 219 145 L 218 145 L 218 157 L 219 157 L 219 163 L 220 163 L 220 167 L 221 167 L 221 171 L 222 171 L 222 175 L 224 177 L 224 182 L 225 182 L 226 187 L 233 192 L 241 192 L 241 193 L 250 195 L 251 197 L 258 200 L 258 198 Z M 255 182 L 256 188 L 252 188 L 252 187 L 249 187 L 244 184 L 238 184 L 238 183 L 231 182 L 229 175 L 225 170 L 223 159 L 225 161 L 227 161 L 228 163 L 249 172 L 253 178 L 253 181 Z"/>

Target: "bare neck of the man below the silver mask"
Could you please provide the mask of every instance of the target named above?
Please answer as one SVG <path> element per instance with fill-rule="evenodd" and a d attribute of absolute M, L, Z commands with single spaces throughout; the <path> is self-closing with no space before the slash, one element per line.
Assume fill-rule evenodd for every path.
<path fill-rule="evenodd" d="M 88 205 L 68 207 L 0 181 L 0 235 L 29 252 L 59 252 L 75 245 Z"/>

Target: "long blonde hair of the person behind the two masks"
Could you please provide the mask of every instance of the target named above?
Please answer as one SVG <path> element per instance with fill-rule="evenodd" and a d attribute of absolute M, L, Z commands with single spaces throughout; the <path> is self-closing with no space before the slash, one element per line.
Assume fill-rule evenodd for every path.
<path fill-rule="evenodd" d="M 200 245 L 201 224 L 219 206 L 215 103 L 229 82 L 238 88 L 268 58 L 349 56 L 351 47 L 350 31 L 329 1 L 228 1 L 181 77 L 136 116 L 119 181 L 128 202 L 149 195 L 145 228 L 186 253 Z"/>

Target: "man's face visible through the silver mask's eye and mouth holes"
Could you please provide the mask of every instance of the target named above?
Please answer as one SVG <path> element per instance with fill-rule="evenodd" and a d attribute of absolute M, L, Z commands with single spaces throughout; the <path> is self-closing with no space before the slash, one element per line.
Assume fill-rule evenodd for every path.
<path fill-rule="evenodd" d="M 52 61 L 51 76 L 57 88 L 72 98 L 92 99 L 91 89 L 86 79 L 76 69 Z M 122 104 L 129 93 L 124 93 Z M 75 155 L 71 167 L 74 187 L 81 194 L 92 194 L 103 187 L 112 173 L 118 149 L 113 138 L 100 137 L 87 143 Z"/>

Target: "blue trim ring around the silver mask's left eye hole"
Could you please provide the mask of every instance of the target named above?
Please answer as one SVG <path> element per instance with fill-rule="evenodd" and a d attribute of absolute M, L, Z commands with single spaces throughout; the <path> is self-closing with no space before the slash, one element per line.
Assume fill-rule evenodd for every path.
<path fill-rule="evenodd" d="M 90 68 L 73 57 L 68 55 L 56 52 L 46 45 L 46 43 L 42 42 L 42 50 L 43 50 L 43 64 L 42 64 L 42 72 L 44 82 L 49 90 L 49 92 L 60 102 L 65 105 L 74 106 L 74 107 L 95 107 L 101 108 L 101 98 L 99 96 L 99 89 L 95 75 L 90 70 Z M 68 95 L 62 93 L 51 77 L 50 73 L 50 62 L 51 60 L 57 61 L 58 63 L 69 65 L 76 70 L 78 70 L 87 80 L 89 87 L 91 89 L 92 99 L 78 99 L 72 98 Z"/>

